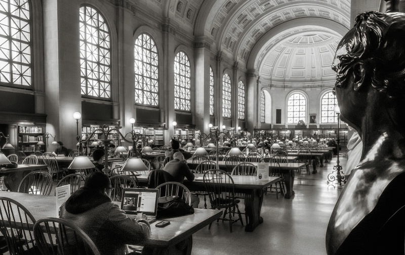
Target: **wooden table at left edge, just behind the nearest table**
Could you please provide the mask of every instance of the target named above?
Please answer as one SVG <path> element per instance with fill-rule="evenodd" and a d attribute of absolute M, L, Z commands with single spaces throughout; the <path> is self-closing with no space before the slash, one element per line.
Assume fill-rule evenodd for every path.
<path fill-rule="evenodd" d="M 17 168 L 2 168 L 0 176 L 4 176 L 4 184 L 10 191 L 17 192 L 22 179 L 33 170 L 46 170 L 47 165 L 18 165 Z"/>

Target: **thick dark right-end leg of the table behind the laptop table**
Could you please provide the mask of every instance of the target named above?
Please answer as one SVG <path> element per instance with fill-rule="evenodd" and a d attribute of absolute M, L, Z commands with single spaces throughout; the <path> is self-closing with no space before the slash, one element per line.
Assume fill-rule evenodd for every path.
<path fill-rule="evenodd" d="M 249 218 L 249 223 L 245 227 L 247 232 L 253 232 L 263 222 L 263 218 L 260 216 L 263 192 L 263 189 L 253 189 L 250 193 L 245 193 L 245 213 L 248 214 Z"/>

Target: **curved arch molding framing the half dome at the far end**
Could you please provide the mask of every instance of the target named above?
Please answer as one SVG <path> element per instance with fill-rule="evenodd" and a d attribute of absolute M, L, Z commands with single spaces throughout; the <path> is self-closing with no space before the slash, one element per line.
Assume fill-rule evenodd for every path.
<path fill-rule="evenodd" d="M 273 29 L 269 30 L 266 34 L 264 34 L 252 48 L 251 53 L 249 55 L 247 61 L 247 69 L 248 70 L 257 70 L 258 64 L 256 59 L 262 55 L 265 48 L 272 42 L 272 39 L 279 37 L 281 34 L 285 34 L 287 32 L 297 30 L 297 29 L 306 29 L 306 28 L 313 28 L 314 30 L 327 30 L 331 34 L 339 35 L 343 37 L 348 28 L 339 24 L 335 21 L 323 19 L 323 18 L 316 18 L 316 17 L 306 17 L 306 18 L 299 18 L 287 21 L 285 23 L 281 23 L 280 25 L 274 27 Z M 265 54 L 268 54 L 265 53 Z M 236 57 L 236 56 L 235 56 Z M 237 58 L 236 58 L 237 59 Z M 264 57 L 263 57 L 264 59 Z"/>

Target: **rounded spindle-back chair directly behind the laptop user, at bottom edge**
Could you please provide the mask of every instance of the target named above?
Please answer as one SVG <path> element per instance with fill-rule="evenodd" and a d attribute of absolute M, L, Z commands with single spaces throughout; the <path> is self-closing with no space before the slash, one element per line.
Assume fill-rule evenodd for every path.
<path fill-rule="evenodd" d="M 47 217 L 35 222 L 33 232 L 42 254 L 100 255 L 90 237 L 71 222 Z"/>

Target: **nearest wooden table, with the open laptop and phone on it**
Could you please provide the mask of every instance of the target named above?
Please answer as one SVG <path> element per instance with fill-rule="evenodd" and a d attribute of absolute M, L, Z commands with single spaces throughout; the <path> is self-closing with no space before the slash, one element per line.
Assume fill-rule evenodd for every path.
<path fill-rule="evenodd" d="M 1 192 L 0 196 L 10 197 L 20 202 L 31 212 L 35 220 L 57 217 L 55 196 L 33 195 L 16 192 Z M 142 254 L 191 254 L 192 234 L 217 220 L 222 211 L 194 209 L 194 214 L 168 219 L 170 225 L 156 228 L 151 224 L 150 239 Z M 129 243 L 131 244 L 131 243 Z"/>

